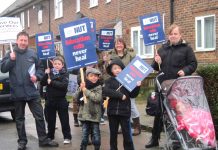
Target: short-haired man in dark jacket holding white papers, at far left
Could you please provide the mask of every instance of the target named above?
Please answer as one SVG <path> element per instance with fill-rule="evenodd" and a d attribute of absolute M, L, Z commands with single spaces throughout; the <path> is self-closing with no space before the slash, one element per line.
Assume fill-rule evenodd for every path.
<path fill-rule="evenodd" d="M 26 103 L 35 118 L 39 146 L 58 147 L 58 143 L 48 139 L 46 135 L 40 94 L 35 86 L 44 72 L 36 53 L 28 49 L 28 39 L 28 33 L 18 33 L 14 51 L 6 54 L 1 66 L 3 73 L 9 72 L 11 97 L 15 105 L 18 150 L 25 150 L 27 144 L 24 116 Z M 31 67 L 33 67 L 32 73 L 30 73 Z"/>

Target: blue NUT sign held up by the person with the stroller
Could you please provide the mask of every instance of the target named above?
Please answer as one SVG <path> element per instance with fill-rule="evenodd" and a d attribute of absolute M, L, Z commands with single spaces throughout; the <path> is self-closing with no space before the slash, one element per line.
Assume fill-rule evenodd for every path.
<path fill-rule="evenodd" d="M 155 45 L 165 41 L 159 13 L 140 16 L 139 19 L 145 45 Z"/>

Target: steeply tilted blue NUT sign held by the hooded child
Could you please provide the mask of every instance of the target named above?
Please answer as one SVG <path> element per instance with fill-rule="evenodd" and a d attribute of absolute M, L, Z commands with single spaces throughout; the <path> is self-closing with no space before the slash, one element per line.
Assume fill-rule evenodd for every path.
<path fill-rule="evenodd" d="M 149 64 L 136 56 L 121 73 L 118 74 L 116 79 L 128 90 L 132 91 L 138 81 L 142 81 L 147 77 L 153 69 Z"/>

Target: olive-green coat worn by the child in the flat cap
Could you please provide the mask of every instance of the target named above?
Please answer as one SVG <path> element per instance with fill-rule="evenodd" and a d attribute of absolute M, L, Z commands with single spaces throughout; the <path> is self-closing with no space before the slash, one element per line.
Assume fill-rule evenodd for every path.
<path fill-rule="evenodd" d="M 77 96 L 79 91 L 75 94 Z M 87 103 L 80 105 L 78 119 L 80 121 L 100 122 L 102 105 L 102 86 L 96 86 L 93 89 L 86 89 L 84 92 Z"/>

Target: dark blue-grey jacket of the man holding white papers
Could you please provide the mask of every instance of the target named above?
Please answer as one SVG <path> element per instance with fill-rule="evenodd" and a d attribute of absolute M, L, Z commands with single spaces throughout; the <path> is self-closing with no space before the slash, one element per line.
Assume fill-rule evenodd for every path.
<path fill-rule="evenodd" d="M 40 81 L 44 75 L 43 65 L 40 63 L 35 51 L 14 48 L 16 60 L 10 59 L 10 52 L 2 60 L 1 71 L 9 72 L 11 97 L 13 100 L 32 100 L 40 97 L 38 89 L 30 80 L 29 68 L 35 64 L 36 77 Z"/>

